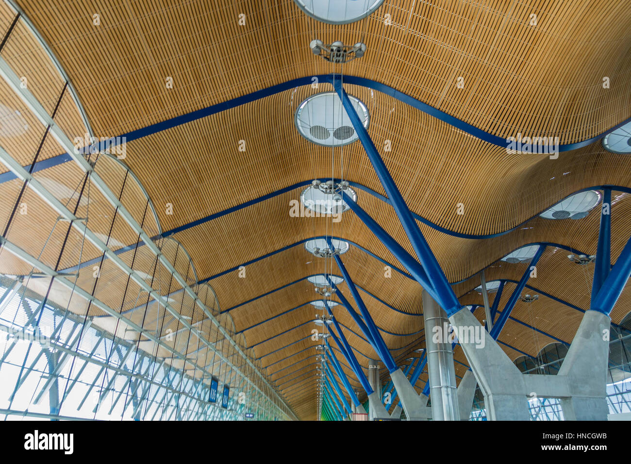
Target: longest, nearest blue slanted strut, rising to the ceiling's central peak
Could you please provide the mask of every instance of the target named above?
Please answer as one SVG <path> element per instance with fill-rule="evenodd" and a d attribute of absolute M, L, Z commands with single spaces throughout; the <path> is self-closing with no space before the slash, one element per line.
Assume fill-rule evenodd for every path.
<path fill-rule="evenodd" d="M 418 256 L 418 259 L 420 259 L 421 264 L 423 265 L 423 269 L 425 269 L 425 272 L 431 278 L 430 283 L 432 283 L 433 289 L 439 296 L 437 301 L 440 306 L 445 309 L 447 316 L 451 316 L 461 309 L 461 305 L 458 302 L 456 294 L 454 294 L 454 290 L 451 288 L 451 285 L 449 285 L 447 277 L 445 277 L 445 273 L 440 268 L 440 265 L 433 255 L 430 246 L 427 244 L 425 237 L 423 237 L 421 230 L 418 228 L 418 224 L 412 217 L 410 209 L 406 205 L 403 196 L 401 196 L 392 176 L 388 172 L 386 164 L 381 159 L 379 152 L 377 152 L 375 144 L 372 143 L 366 128 L 363 126 L 362 121 L 360 121 L 359 116 L 357 116 L 357 112 L 355 111 L 355 108 L 353 108 L 353 104 L 342 87 L 341 79 L 334 80 L 333 85 L 340 100 L 342 101 L 346 114 L 348 114 L 348 117 L 353 124 L 353 128 L 355 128 L 355 131 L 357 132 L 357 136 L 361 141 L 365 152 L 375 169 L 375 173 L 379 177 L 379 181 L 384 187 L 388 198 L 392 202 L 392 207 L 394 208 L 396 215 L 399 217 L 399 221 L 401 221 L 401 225 L 408 235 L 408 239 L 410 239 L 410 243 Z"/>

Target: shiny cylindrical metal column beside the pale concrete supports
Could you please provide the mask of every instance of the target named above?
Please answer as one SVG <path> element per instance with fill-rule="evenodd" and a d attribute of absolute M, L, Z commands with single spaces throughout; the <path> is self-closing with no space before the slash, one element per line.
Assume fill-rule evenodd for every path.
<path fill-rule="evenodd" d="M 460 420 L 451 343 L 449 340 L 440 340 L 440 338 L 436 342 L 434 336 L 435 327 L 440 329 L 440 334 L 445 332 L 444 328 L 449 326 L 449 319 L 445 311 L 425 290 L 423 290 L 423 320 L 433 420 Z"/>

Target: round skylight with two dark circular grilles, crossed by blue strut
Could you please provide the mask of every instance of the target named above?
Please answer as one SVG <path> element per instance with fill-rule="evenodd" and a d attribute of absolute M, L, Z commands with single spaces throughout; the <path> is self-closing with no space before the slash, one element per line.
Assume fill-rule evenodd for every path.
<path fill-rule="evenodd" d="M 348 95 L 357 116 L 368 128 L 368 109 L 360 100 Z M 300 135 L 317 145 L 343 146 L 358 139 L 353 123 L 335 92 L 316 93 L 300 104 L 294 117 Z"/>

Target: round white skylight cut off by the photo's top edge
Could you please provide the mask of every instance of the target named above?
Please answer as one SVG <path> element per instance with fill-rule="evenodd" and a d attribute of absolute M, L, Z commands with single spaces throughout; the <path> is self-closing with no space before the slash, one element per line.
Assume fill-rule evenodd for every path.
<path fill-rule="evenodd" d="M 361 20 L 379 8 L 384 0 L 293 0 L 307 15 L 327 24 L 348 24 Z"/>

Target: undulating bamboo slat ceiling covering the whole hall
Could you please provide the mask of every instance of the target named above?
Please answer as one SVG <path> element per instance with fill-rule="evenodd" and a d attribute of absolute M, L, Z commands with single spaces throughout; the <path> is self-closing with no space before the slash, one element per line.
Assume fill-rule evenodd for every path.
<path fill-rule="evenodd" d="M 501 138 L 522 133 L 558 136 L 562 144 L 575 143 L 599 136 L 631 116 L 627 77 L 631 11 L 618 1 L 386 0 L 367 18 L 335 26 L 309 18 L 292 0 L 18 3 L 68 75 L 96 136 L 129 133 L 295 78 L 339 71 L 389 85 Z M 244 26 L 239 25 L 241 13 Z M 530 25 L 533 14 L 536 26 Z M 94 25 L 93 15 L 99 15 L 100 25 Z M 390 15 L 390 25 L 386 25 L 386 15 Z M 0 9 L 3 30 L 8 30 L 12 20 L 9 9 Z M 324 43 L 362 41 L 368 51 L 341 69 L 313 56 L 308 44 L 315 38 Z M 33 95 L 52 114 L 64 83 L 49 64 L 42 70 L 40 63 L 47 59 L 21 23 L 2 57 L 18 75 L 33 76 L 29 77 Z M 168 77 L 172 88 L 165 86 Z M 464 88 L 456 86 L 459 77 L 464 79 Z M 609 88 L 603 88 L 604 77 L 609 78 Z M 498 260 L 526 244 L 549 242 L 538 277 L 529 285 L 536 289 L 533 292 L 551 297 L 542 294 L 533 303 L 518 302 L 499 340 L 511 359 L 523 353 L 535 356 L 556 339 L 571 342 L 581 321 L 580 310 L 589 308 L 594 266 L 573 265 L 565 257 L 567 251 L 555 245 L 595 254 L 598 208 L 577 221 L 536 216 L 581 189 L 631 187 L 627 155 L 607 152 L 600 141 L 560 153 L 558 159 L 509 154 L 391 95 L 359 85 L 345 87 L 367 105 L 369 134 L 375 145 L 392 142 L 392 151 L 381 155 L 414 213 L 461 234 L 498 234 L 515 228 L 494 238 L 465 239 L 419 223 L 449 281 L 459 282 L 454 290 L 461 303 L 481 304 L 481 295 L 474 289 L 480 285 L 480 270 L 487 268 L 487 280 L 507 280 L 501 301 L 505 304 L 524 265 Z M 151 220 L 143 225 L 151 237 L 270 195 L 175 232 L 173 238 L 194 266 L 182 261 L 178 265 L 182 277 L 191 283 L 195 278 L 208 281 L 213 287 L 220 311 L 232 317 L 234 331 L 242 333 L 245 346 L 252 347 L 252 357 L 261 360 L 264 372 L 300 419 L 315 419 L 317 413 L 315 343 L 309 338 L 315 310 L 308 304 L 317 295 L 306 278 L 324 271 L 340 274 L 336 266 L 326 269 L 321 258 L 307 253 L 302 241 L 333 235 L 403 268 L 350 211 L 339 223 L 288 215 L 290 200 L 304 189 L 297 184 L 314 178 L 343 177 L 384 194 L 360 143 L 335 150 L 332 168 L 331 149 L 315 146 L 297 133 L 293 114 L 300 102 L 330 90 L 327 83 L 317 89 L 300 85 L 148 134 L 127 142 L 124 159 L 155 206 L 159 224 Z M 45 128 L 4 83 L 0 83 L 0 95 L 4 105 L 20 110 L 30 128 L 20 138 L 0 136 L 0 145 L 27 165 Z M 86 129 L 71 103 L 64 94 L 55 120 L 72 140 Z M 245 152 L 238 149 L 240 140 L 246 143 Z M 63 152 L 49 139 L 39 159 Z M 141 218 L 146 199 L 139 187 L 123 182 L 114 165 L 98 169 L 112 191 L 121 193 L 122 201 Z M 82 175 L 72 163 L 35 173 L 36 178 L 71 191 Z M 3 223 L 20 186 L 17 180 L 0 184 L 2 198 L 10 199 L 0 205 Z M 273 194 L 291 186 L 295 187 Z M 97 208 L 102 217 L 90 221 L 90 227 L 107 236 L 107 217 L 111 219 L 114 211 L 95 191 L 90 207 Z M 391 206 L 357 191 L 358 204 L 413 254 Z M 631 233 L 631 200 L 622 193 L 614 193 L 614 198 L 612 262 Z M 47 211 L 34 195 L 28 201 Z M 172 214 L 167 214 L 168 203 L 173 205 Z M 456 213 L 458 203 L 463 203 L 464 215 Z M 86 206 L 79 205 L 80 212 Z M 8 238 L 25 249 L 31 246 L 35 256 L 44 249 L 42 261 L 54 265 L 55 250 L 59 252 L 61 245 L 47 248 L 44 242 L 55 218 L 52 211 L 37 220 L 18 218 Z M 115 221 L 112 237 L 116 247 L 136 242 L 133 231 Z M 54 240 L 61 243 L 60 237 Z M 71 242 L 76 249 L 64 251 L 60 269 L 79 262 L 81 237 Z M 100 258 L 90 244 L 82 253 L 81 261 Z M 136 267 L 151 275 L 153 256 L 143 253 L 139 252 Z M 6 253 L 0 256 L 1 271 L 19 273 L 18 261 Z M 132 257 L 130 252 L 121 254 L 129 265 Z M 415 349 L 424 346 L 421 287 L 396 271 L 384 278 L 384 263 L 358 247 L 351 246 L 342 258 L 387 346 L 398 362 L 406 363 L 416 355 Z M 245 265 L 245 278 L 239 277 L 241 265 Z M 127 276 L 115 266 L 104 270 L 109 271 L 107 285 L 98 289 L 97 296 L 141 323 L 142 314 L 134 311 L 137 303 L 122 294 Z M 82 269 L 78 285 L 88 288 L 90 273 L 91 267 Z M 164 276 L 160 279 L 162 294 L 177 290 Z M 352 300 L 345 284 L 339 290 Z M 130 293 L 137 294 L 138 289 Z M 630 303 L 627 288 L 611 314 L 614 323 L 620 323 Z M 340 308 L 334 314 L 366 368 L 376 354 Z M 155 312 L 153 321 L 161 316 Z M 483 312 L 478 308 L 474 314 L 481 320 Z M 105 317 L 102 324 L 109 327 L 111 322 Z M 198 353 L 199 364 L 205 355 Z M 359 390 L 339 352 L 338 359 Z M 467 362 L 459 348 L 455 359 L 456 374 L 462 376 Z M 419 391 L 426 380 L 423 374 L 416 384 Z"/>

